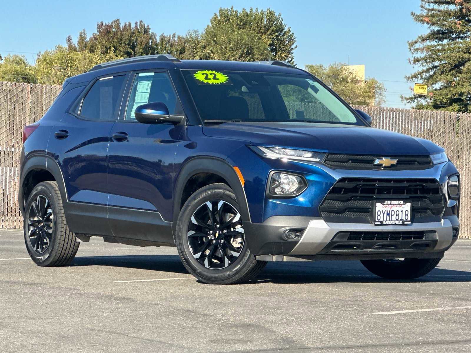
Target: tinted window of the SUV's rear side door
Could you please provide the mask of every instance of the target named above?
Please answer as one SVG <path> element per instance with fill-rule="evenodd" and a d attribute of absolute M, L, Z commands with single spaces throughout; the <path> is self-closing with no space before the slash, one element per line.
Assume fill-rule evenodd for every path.
<path fill-rule="evenodd" d="M 79 115 L 89 120 L 117 119 L 125 83 L 126 75 L 97 80 L 83 98 Z"/>

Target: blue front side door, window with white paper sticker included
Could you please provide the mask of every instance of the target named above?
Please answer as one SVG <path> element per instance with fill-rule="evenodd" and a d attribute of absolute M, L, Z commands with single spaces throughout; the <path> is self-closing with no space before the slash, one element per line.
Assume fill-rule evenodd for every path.
<path fill-rule="evenodd" d="M 128 101 L 111 131 L 108 149 L 108 220 L 116 237 L 173 243 L 171 232 L 174 159 L 181 128 L 143 124 L 134 111 L 163 102 L 183 115 L 167 72 L 136 72 Z"/>

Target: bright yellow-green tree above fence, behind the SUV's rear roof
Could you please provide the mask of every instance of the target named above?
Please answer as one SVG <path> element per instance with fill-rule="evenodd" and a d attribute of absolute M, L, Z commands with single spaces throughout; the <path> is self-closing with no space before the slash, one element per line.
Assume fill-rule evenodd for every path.
<path fill-rule="evenodd" d="M 39 53 L 35 72 L 38 83 L 62 84 L 66 78 L 89 71 L 94 65 L 121 59 L 113 52 L 102 54 L 100 47 L 94 53 L 69 50 L 58 45 L 54 50 Z"/>

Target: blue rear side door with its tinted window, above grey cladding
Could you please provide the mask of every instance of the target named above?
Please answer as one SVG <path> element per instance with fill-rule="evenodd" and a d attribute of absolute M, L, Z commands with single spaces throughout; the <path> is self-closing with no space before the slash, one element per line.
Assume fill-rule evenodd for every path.
<path fill-rule="evenodd" d="M 48 154 L 59 165 L 67 195 L 67 222 L 73 232 L 111 235 L 107 151 L 128 74 L 97 78 L 53 128 Z"/>

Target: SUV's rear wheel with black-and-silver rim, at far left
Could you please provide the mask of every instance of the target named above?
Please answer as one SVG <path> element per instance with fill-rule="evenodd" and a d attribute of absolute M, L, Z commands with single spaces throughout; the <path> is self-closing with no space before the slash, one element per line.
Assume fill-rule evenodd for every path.
<path fill-rule="evenodd" d="M 23 229 L 26 249 L 36 265 L 68 265 L 79 249 L 80 242 L 67 227 L 56 182 L 34 187 L 24 209 Z"/>

